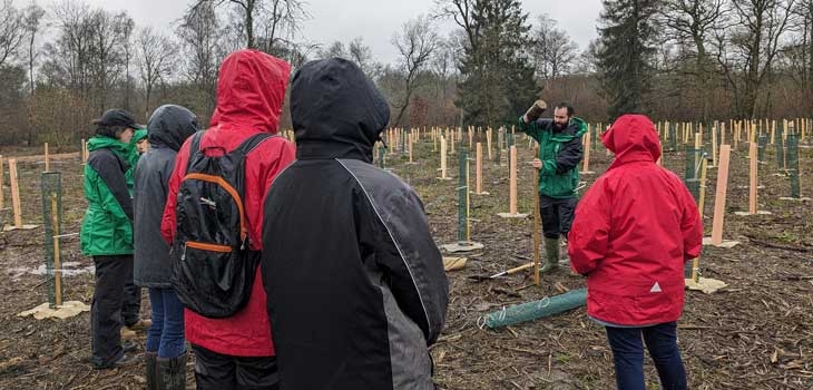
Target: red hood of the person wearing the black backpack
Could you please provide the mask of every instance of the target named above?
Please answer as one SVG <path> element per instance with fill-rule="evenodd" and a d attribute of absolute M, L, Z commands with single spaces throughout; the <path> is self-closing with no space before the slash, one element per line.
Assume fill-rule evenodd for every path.
<path fill-rule="evenodd" d="M 280 125 L 291 66 L 253 49 L 223 60 L 212 127 L 255 128 L 275 134 Z"/>

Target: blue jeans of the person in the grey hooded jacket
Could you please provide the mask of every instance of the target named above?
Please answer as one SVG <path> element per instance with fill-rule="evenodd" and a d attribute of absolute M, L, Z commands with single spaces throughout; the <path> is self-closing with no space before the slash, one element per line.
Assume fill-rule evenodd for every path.
<path fill-rule="evenodd" d="M 186 352 L 184 304 L 173 289 L 149 289 L 153 325 L 147 330 L 147 351 L 158 358 L 177 358 Z"/>

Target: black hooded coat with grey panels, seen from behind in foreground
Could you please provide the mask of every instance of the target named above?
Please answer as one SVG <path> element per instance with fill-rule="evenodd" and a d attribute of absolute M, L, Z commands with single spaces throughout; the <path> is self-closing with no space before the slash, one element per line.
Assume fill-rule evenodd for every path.
<path fill-rule="evenodd" d="M 373 166 L 390 110 L 352 62 L 294 76 L 297 160 L 265 201 L 262 274 L 281 389 L 433 389 L 449 285 L 423 204 Z"/>

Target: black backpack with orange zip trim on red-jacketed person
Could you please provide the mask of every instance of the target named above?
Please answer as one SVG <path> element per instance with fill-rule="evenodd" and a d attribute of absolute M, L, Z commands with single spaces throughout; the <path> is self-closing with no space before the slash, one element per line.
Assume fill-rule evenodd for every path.
<path fill-rule="evenodd" d="M 251 251 L 243 208 L 245 157 L 265 139 L 259 133 L 234 150 L 199 148 L 193 136 L 189 164 L 178 187 L 172 283 L 180 302 L 208 318 L 227 318 L 248 303 L 259 252 Z M 221 149 L 206 156 L 206 149 Z"/>

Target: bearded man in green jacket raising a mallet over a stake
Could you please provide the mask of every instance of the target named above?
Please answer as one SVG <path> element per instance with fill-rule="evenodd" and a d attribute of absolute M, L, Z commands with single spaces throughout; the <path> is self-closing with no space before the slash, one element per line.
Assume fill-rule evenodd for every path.
<path fill-rule="evenodd" d="M 547 107 L 539 100 L 519 119 L 522 131 L 539 143 L 539 156 L 533 167 L 539 169 L 539 213 L 545 236 L 545 265 L 541 272 L 550 272 L 559 265 L 559 236 L 567 240 L 574 221 L 579 185 L 579 168 L 584 147 L 581 136 L 587 124 L 574 116 L 574 108 L 559 104 L 554 119 L 538 119 Z M 535 232 L 535 234 L 538 234 Z"/>

